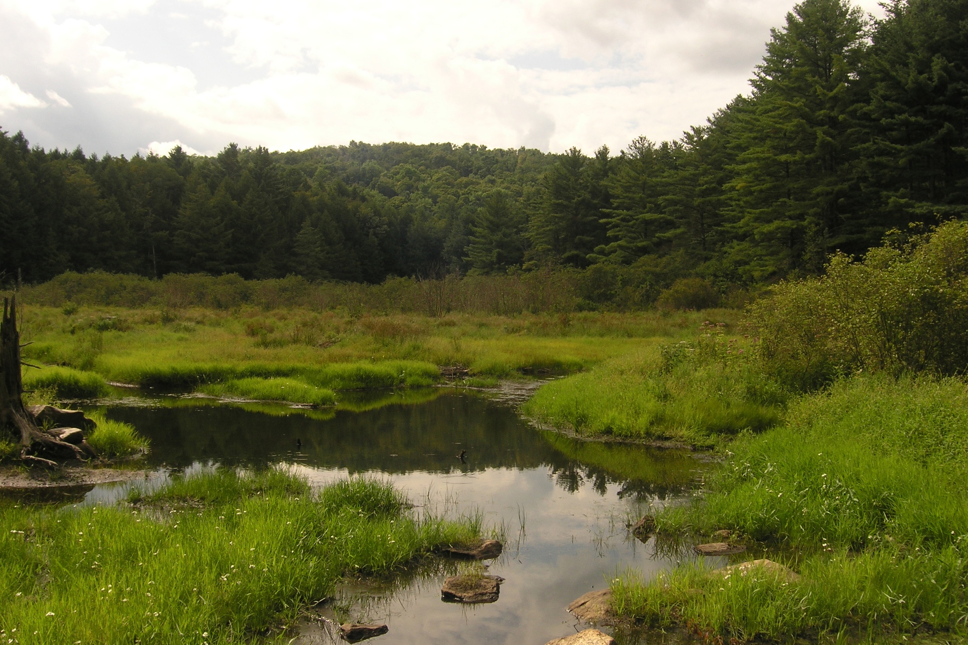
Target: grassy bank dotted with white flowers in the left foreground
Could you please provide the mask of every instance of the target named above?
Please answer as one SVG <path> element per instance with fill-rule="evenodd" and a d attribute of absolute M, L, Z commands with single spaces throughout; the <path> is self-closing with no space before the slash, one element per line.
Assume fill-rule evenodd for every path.
<path fill-rule="evenodd" d="M 289 625 L 347 573 L 480 531 L 408 512 L 387 484 L 314 494 L 280 471 L 179 480 L 135 511 L 0 510 L 0 633 L 19 643 L 238 643 Z"/>

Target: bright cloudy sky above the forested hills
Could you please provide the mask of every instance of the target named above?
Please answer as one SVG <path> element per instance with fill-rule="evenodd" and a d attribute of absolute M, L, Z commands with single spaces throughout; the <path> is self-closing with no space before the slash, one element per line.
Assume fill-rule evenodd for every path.
<path fill-rule="evenodd" d="M 125 155 L 350 139 L 617 151 L 746 92 L 792 4 L 0 0 L 0 129 Z"/>

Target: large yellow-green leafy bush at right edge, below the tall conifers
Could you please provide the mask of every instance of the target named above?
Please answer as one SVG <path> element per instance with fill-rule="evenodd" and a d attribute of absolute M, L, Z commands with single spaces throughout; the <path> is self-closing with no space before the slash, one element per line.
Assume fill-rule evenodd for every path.
<path fill-rule="evenodd" d="M 968 223 L 950 221 L 777 285 L 751 311 L 767 370 L 803 388 L 858 371 L 964 373 L 966 258 Z"/>

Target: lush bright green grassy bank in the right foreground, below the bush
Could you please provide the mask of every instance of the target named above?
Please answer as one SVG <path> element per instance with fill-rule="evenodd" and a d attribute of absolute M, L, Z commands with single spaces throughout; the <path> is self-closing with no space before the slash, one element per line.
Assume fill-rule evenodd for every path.
<path fill-rule="evenodd" d="M 705 499 L 659 513 L 658 529 L 700 538 L 730 529 L 782 549 L 774 557 L 801 580 L 724 580 L 696 567 L 650 583 L 632 575 L 613 583 L 623 614 L 741 639 L 968 633 L 963 380 L 838 381 L 726 454 Z"/>

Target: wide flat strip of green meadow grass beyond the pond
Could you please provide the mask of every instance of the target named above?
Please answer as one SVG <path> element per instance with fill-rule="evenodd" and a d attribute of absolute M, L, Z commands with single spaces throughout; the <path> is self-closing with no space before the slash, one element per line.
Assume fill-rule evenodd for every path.
<path fill-rule="evenodd" d="M 714 311 L 720 318 L 736 312 Z M 301 309 L 25 309 L 34 363 L 73 366 L 156 390 L 239 378 L 287 377 L 320 388 L 439 383 L 436 366 L 491 379 L 562 374 L 634 351 L 642 338 L 680 336 L 703 313 L 417 314 L 348 316 Z M 109 327 L 102 323 L 113 321 Z"/>

